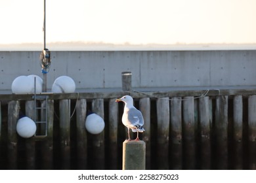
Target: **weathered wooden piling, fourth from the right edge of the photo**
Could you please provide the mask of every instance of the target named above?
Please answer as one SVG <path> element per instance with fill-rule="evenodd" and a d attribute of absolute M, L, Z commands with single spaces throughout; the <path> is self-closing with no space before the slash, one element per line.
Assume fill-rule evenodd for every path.
<path fill-rule="evenodd" d="M 200 169 L 211 169 L 211 120 L 209 97 L 199 99 Z"/>

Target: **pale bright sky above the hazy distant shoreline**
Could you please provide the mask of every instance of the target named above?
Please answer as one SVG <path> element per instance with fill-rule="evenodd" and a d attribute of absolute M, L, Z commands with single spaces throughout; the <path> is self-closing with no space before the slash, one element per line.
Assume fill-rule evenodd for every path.
<path fill-rule="evenodd" d="M 256 0 L 46 0 L 47 42 L 256 43 Z M 0 44 L 43 42 L 43 0 L 0 1 Z"/>

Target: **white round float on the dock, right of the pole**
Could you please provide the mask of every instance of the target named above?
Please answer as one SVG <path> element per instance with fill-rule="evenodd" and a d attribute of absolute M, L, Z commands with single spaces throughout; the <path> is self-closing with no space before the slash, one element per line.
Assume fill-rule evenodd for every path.
<path fill-rule="evenodd" d="M 70 76 L 59 76 L 54 80 L 53 93 L 74 93 L 75 92 L 75 82 Z"/>

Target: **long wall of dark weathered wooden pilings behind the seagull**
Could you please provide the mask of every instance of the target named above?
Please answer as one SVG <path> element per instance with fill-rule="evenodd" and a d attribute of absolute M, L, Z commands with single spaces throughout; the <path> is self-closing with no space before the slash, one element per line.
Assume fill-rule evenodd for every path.
<path fill-rule="evenodd" d="M 1 169 L 121 169 L 123 104 L 132 95 L 146 131 L 146 169 L 256 169 L 256 91 L 204 90 L 48 94 L 47 137 L 23 139 L 18 114 L 33 95 L 0 95 Z M 85 129 L 88 110 L 104 131 Z M 136 135 L 136 134 L 135 134 Z"/>

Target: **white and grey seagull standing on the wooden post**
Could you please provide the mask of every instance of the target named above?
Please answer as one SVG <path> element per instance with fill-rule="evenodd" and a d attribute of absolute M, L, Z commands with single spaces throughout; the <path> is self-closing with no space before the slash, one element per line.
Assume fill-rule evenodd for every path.
<path fill-rule="evenodd" d="M 137 108 L 133 106 L 133 97 L 129 95 L 125 95 L 120 99 L 116 99 L 116 102 L 122 101 L 125 103 L 125 107 L 123 109 L 122 122 L 128 129 L 128 141 L 131 141 L 129 129 L 133 132 L 137 132 L 137 138 L 135 141 L 140 141 L 139 132 L 145 131 L 142 127 L 144 125 L 143 116 Z"/>

